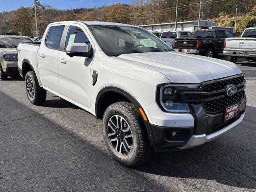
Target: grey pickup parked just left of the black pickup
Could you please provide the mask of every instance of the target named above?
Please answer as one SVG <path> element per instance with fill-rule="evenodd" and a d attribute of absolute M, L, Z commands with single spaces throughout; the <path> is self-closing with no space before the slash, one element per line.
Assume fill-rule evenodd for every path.
<path fill-rule="evenodd" d="M 175 38 L 188 38 L 193 37 L 194 34 L 190 31 L 165 31 L 161 35 L 161 39 L 173 48 L 173 42 Z"/>

